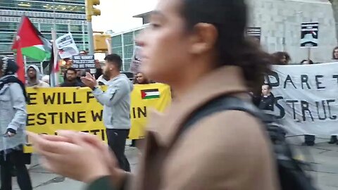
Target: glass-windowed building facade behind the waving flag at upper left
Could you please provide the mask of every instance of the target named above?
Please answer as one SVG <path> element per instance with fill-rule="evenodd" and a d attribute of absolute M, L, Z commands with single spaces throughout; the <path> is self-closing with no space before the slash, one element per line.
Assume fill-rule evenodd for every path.
<path fill-rule="evenodd" d="M 54 28 L 57 37 L 70 32 L 78 49 L 88 49 L 84 0 L 0 0 L 0 54 L 11 54 L 23 15 L 30 18 L 46 39 L 51 39 Z"/>

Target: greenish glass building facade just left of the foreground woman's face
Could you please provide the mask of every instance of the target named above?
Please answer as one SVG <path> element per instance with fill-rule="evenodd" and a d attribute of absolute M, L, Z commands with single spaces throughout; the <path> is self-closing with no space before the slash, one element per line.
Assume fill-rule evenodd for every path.
<path fill-rule="evenodd" d="M 112 34 L 112 52 L 117 53 L 123 60 L 123 70 L 128 71 L 134 54 L 135 37 L 144 29 L 145 25 L 126 32 Z"/>

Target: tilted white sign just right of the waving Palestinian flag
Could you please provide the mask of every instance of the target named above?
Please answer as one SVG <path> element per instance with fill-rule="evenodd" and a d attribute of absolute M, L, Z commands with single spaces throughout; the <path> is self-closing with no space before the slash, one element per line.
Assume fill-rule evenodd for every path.
<path fill-rule="evenodd" d="M 79 50 L 70 33 L 56 39 L 56 47 L 61 58 L 71 58 L 79 54 Z"/>

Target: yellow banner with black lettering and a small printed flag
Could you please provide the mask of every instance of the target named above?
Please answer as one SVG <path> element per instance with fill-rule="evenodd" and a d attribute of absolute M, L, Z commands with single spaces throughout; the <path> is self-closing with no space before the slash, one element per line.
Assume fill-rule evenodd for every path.
<path fill-rule="evenodd" d="M 106 141 L 102 106 L 89 88 L 27 88 L 27 130 L 38 134 L 56 134 L 60 129 L 96 134 Z M 171 102 L 170 87 L 165 84 L 137 84 L 131 94 L 130 139 L 144 137 L 149 110 L 163 111 Z M 29 142 L 29 140 L 28 140 Z M 26 153 L 32 152 L 28 143 Z"/>

